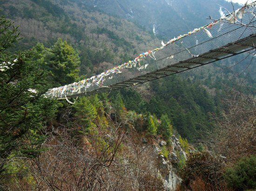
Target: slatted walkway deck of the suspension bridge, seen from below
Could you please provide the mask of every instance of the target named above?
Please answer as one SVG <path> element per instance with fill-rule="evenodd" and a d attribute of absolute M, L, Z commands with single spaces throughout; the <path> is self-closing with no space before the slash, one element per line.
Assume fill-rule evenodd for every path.
<path fill-rule="evenodd" d="M 113 85 L 110 85 L 109 87 L 102 87 L 99 89 L 95 89 L 91 92 L 80 94 L 80 96 L 94 95 L 102 92 L 109 92 L 111 89 L 125 88 L 129 86 L 133 86 L 135 84 L 145 83 L 145 82 L 149 82 L 165 76 L 177 74 L 182 71 L 190 70 L 205 64 L 210 64 L 218 60 L 222 60 L 224 58 L 232 57 L 232 56 L 241 54 L 243 52 L 253 50 L 255 48 L 255 45 L 256 45 L 256 34 L 250 35 L 247 38 L 243 38 L 241 40 L 222 46 L 215 50 L 210 50 L 209 52 L 198 55 L 197 57 L 189 58 L 188 60 L 181 61 L 177 64 L 173 64 L 173 65 L 164 67 L 162 69 L 155 70 L 153 72 L 149 72 L 142 76 L 128 79 L 121 83 L 115 83 Z"/>

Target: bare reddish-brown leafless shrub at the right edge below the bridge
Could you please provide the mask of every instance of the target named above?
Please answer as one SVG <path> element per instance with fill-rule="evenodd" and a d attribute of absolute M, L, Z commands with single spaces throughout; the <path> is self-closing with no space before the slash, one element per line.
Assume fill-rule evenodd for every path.
<path fill-rule="evenodd" d="M 235 89 L 229 92 L 222 118 L 217 120 L 216 130 L 207 143 L 226 161 L 235 161 L 256 153 L 256 102 Z"/>

